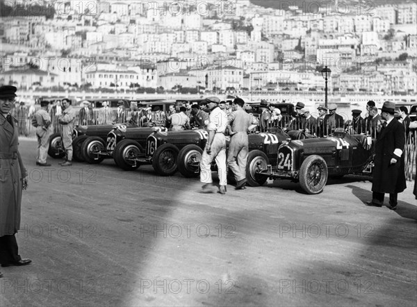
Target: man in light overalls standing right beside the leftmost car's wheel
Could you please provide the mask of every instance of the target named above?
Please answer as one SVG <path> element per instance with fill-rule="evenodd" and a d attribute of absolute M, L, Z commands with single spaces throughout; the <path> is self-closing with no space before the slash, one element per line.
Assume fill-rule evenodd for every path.
<path fill-rule="evenodd" d="M 63 145 L 67 156 L 63 163 L 60 163 L 62 166 L 71 166 L 72 165 L 72 131 L 74 130 L 75 124 L 75 117 L 76 117 L 76 110 L 72 108 L 72 101 L 70 99 L 63 99 L 62 101 L 63 107 L 63 115 L 59 119 L 59 123 L 62 126 L 62 138 L 63 138 Z"/>

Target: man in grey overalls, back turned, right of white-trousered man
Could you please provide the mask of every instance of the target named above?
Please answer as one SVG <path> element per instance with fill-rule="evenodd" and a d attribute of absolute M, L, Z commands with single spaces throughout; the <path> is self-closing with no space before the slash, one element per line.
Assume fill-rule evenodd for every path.
<path fill-rule="evenodd" d="M 243 110 L 244 104 L 245 101 L 243 99 L 234 99 L 233 107 L 235 110 L 227 117 L 227 124 L 231 125 L 231 130 L 233 131 L 229 143 L 227 164 L 236 179 L 236 190 L 245 189 L 246 163 L 247 155 L 249 154 L 247 130 L 253 128 L 252 124 L 256 124 L 254 117 Z"/>

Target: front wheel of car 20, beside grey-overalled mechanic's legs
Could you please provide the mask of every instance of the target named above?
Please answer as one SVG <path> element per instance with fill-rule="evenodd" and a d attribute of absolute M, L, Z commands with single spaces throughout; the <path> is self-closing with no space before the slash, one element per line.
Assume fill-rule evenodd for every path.
<path fill-rule="evenodd" d="M 259 185 L 263 185 L 267 181 L 268 177 L 259 176 L 257 173 L 259 172 L 260 168 L 266 169 L 268 164 L 269 159 L 263 151 L 250 151 L 249 155 L 247 156 L 246 164 L 247 185 L 250 185 L 251 187 L 259 187 Z"/>

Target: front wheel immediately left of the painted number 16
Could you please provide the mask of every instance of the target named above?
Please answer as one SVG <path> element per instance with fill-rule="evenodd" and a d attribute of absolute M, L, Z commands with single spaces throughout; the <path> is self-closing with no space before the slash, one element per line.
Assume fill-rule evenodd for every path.
<path fill-rule="evenodd" d="M 143 152 L 143 148 L 138 142 L 134 140 L 122 140 L 116 144 L 115 150 L 113 151 L 113 159 L 125 171 L 133 171 L 140 167 L 140 163 L 131 161 L 129 158 L 134 158 Z"/>

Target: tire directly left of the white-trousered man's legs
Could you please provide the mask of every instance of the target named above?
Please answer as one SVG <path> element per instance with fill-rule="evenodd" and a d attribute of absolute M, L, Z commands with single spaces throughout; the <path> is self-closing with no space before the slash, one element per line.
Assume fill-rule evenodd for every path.
<path fill-rule="evenodd" d="M 190 163 L 199 163 L 202 160 L 203 149 L 197 145 L 187 145 L 179 151 L 177 165 L 179 172 L 186 178 L 193 178 L 199 175 L 199 165 L 197 167 Z"/>

